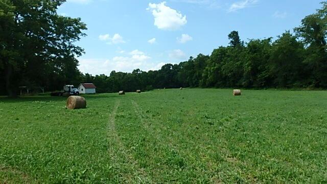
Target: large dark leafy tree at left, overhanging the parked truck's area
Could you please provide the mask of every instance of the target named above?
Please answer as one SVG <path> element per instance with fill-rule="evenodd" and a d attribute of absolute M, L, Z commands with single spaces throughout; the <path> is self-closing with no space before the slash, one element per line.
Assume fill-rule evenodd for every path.
<path fill-rule="evenodd" d="M 85 34 L 80 18 L 57 14 L 65 0 L 0 1 L 0 74 L 9 96 L 19 85 L 45 85 L 50 77 L 64 82 L 79 75 L 83 49 L 75 45 Z"/>

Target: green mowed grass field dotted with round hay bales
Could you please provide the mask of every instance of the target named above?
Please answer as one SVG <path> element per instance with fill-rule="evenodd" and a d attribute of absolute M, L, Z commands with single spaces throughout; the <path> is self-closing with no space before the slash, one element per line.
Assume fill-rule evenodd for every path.
<path fill-rule="evenodd" d="M 0 99 L 0 183 L 326 183 L 327 92 Z"/>

